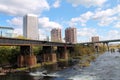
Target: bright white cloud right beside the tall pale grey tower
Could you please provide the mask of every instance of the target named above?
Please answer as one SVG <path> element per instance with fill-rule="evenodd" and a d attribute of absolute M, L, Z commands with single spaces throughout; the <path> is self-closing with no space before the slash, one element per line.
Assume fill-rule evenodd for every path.
<path fill-rule="evenodd" d="M 62 28 L 59 23 L 50 21 L 48 17 L 39 18 L 39 27 L 46 29 Z"/>

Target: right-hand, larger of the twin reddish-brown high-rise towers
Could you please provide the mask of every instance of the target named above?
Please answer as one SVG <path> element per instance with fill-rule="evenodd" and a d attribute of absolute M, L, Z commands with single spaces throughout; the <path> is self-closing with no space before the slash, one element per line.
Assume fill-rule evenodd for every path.
<path fill-rule="evenodd" d="M 66 43 L 77 43 L 77 29 L 69 27 L 65 30 L 65 42 Z"/>

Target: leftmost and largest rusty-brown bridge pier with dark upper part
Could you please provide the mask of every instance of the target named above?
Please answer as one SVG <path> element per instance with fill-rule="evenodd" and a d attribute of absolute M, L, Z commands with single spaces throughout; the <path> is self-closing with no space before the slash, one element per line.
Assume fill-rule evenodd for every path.
<path fill-rule="evenodd" d="M 18 56 L 18 67 L 30 67 L 37 63 L 36 56 L 32 51 L 32 46 L 20 46 L 20 53 Z"/>

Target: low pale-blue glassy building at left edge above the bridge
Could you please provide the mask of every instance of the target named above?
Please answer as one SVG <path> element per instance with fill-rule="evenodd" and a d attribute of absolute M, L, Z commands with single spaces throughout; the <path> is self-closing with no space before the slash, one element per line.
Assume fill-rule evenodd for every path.
<path fill-rule="evenodd" d="M 12 27 L 0 26 L 0 37 L 13 37 L 14 29 Z"/>

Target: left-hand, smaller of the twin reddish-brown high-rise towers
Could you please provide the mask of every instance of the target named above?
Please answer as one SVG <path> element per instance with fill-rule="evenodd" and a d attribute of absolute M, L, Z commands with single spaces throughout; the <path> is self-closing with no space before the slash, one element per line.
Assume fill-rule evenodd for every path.
<path fill-rule="evenodd" d="M 62 42 L 61 29 L 52 29 L 51 30 L 51 41 Z"/>

